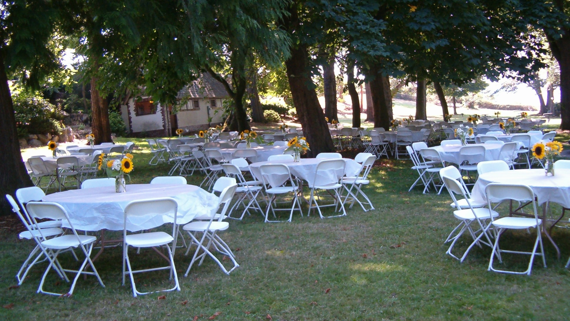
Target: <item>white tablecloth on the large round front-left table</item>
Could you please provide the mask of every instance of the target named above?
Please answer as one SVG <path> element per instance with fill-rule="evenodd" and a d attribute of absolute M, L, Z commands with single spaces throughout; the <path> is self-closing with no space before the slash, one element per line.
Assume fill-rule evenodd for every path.
<path fill-rule="evenodd" d="M 124 209 L 129 202 L 161 197 L 172 197 L 178 202 L 178 224 L 213 213 L 218 207 L 218 197 L 198 186 L 170 184 L 127 184 L 125 193 L 116 193 L 115 186 L 73 189 L 48 194 L 42 200 L 62 205 L 76 229 L 99 231 L 123 230 Z M 132 217 L 127 221 L 127 229 L 146 230 L 169 222 L 173 220 L 168 216 Z"/>

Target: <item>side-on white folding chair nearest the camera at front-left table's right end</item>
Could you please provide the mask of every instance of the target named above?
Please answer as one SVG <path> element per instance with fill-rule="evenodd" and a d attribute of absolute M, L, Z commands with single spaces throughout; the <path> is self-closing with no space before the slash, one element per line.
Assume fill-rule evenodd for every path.
<path fill-rule="evenodd" d="M 238 185 L 234 184 L 227 186 L 225 189 L 222 190 L 222 193 L 218 198 L 218 209 L 221 208 L 221 211 L 219 213 L 210 216 L 209 220 L 207 221 L 193 221 L 182 227 L 182 229 L 188 231 L 188 234 L 192 238 L 193 243 L 196 243 L 197 246 L 196 251 L 194 251 L 194 256 L 192 257 L 192 261 L 190 261 L 190 265 L 188 266 L 188 269 L 186 270 L 186 274 L 184 274 L 184 277 L 188 277 L 188 273 L 190 272 L 190 269 L 192 268 L 192 265 L 194 265 L 195 262 L 199 260 L 200 262 L 198 263 L 198 266 L 202 265 L 202 262 L 204 261 L 206 254 L 210 255 L 210 257 L 214 259 L 216 263 L 218 263 L 218 266 L 220 267 L 220 269 L 222 269 L 223 273 L 225 274 L 229 275 L 231 271 L 233 271 L 235 268 L 239 266 L 238 262 L 235 261 L 235 255 L 230 250 L 230 247 L 226 244 L 226 242 L 223 242 L 223 240 L 218 235 L 220 231 L 225 231 L 230 226 L 228 222 L 223 222 L 222 220 L 223 218 L 226 217 L 227 209 L 230 206 L 231 199 L 234 197 L 234 193 L 237 188 Z M 202 233 L 202 237 L 200 238 L 200 240 L 198 240 L 198 238 L 196 237 L 198 233 Z M 207 244 L 205 244 L 206 239 L 207 239 Z M 233 263 L 233 267 L 231 267 L 231 269 L 227 270 L 226 267 L 223 266 L 222 262 L 219 261 L 219 259 L 215 257 L 213 253 L 211 253 L 210 246 L 212 245 L 214 245 L 214 248 L 219 253 L 226 255 L 226 257 L 230 259 L 230 261 Z M 190 251 L 190 246 L 188 247 L 186 254 L 188 254 L 189 251 Z M 201 254 L 198 254 L 200 253 L 200 251 L 203 252 Z"/>

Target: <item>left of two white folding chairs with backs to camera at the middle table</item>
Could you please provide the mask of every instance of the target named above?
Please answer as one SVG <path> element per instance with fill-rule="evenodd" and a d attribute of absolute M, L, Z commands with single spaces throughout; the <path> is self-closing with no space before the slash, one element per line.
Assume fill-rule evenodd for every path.
<path fill-rule="evenodd" d="M 259 172 L 261 174 L 261 179 L 263 182 L 263 186 L 265 189 L 265 193 L 270 196 L 270 199 L 267 201 L 267 209 L 265 212 L 265 222 L 284 222 L 284 221 L 272 221 L 269 220 L 269 210 L 275 216 L 275 211 L 278 210 L 287 210 L 290 211 L 289 219 L 287 222 L 291 222 L 293 218 L 293 211 L 299 210 L 301 216 L 303 217 L 303 212 L 301 210 L 301 204 L 298 197 L 300 188 L 299 182 L 293 180 L 291 177 L 291 172 L 287 165 L 284 164 L 263 164 L 259 166 Z M 291 201 L 291 209 L 276 209 L 273 205 L 277 196 L 286 196 L 291 194 L 292 201 Z M 297 208 L 295 208 L 295 205 Z"/>

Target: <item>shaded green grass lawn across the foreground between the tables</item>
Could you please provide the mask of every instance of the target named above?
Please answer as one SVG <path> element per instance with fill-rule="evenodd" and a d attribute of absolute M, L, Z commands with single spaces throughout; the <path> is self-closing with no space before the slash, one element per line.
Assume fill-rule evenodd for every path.
<path fill-rule="evenodd" d="M 559 137 L 562 141 L 569 135 Z M 150 152 L 143 139 L 137 148 L 132 183 L 146 183 L 166 174 L 169 165 L 148 165 Z M 133 298 L 130 283 L 121 286 L 121 249 L 105 250 L 95 262 L 105 283 L 80 278 L 71 298 L 36 294 L 46 263 L 31 271 L 22 286 L 14 275 L 33 245 L 17 238 L 19 230 L 0 229 L 0 318 L 28 319 L 196 319 L 207 320 L 380 320 L 380 319 L 566 319 L 570 306 L 570 273 L 564 264 L 570 255 L 570 231 L 555 228 L 553 238 L 562 258 L 544 241 L 547 268 L 540 258 L 530 277 L 487 271 L 491 249 L 474 247 L 459 263 L 445 254 L 443 241 L 458 224 L 450 197 L 424 195 L 417 188 L 410 161 L 379 160 L 365 189 L 376 210 L 357 205 L 347 217 L 321 220 L 318 215 L 291 223 L 264 224 L 260 215 L 231 221 L 222 235 L 237 255 L 240 267 L 230 275 L 206 258 L 183 274 L 190 262 L 184 250 L 176 252 L 182 291 Z M 197 184 L 201 177 L 189 177 Z M 127 186 L 128 189 L 128 186 Z M 307 206 L 304 204 L 304 213 Z M 505 213 L 505 207 L 499 209 Z M 560 206 L 553 206 L 560 213 Z M 4 221 L 4 220 L 2 220 Z M 0 225 L 0 227 L 5 225 Z M 534 231 L 502 237 L 502 246 L 531 249 Z M 465 250 L 469 238 L 458 242 Z M 150 250 L 131 254 L 135 269 L 162 263 Z M 524 270 L 528 257 L 504 255 L 504 267 Z M 60 256 L 74 264 L 71 255 Z M 128 282 L 128 281 L 127 281 Z M 137 275 L 144 290 L 166 289 L 168 273 Z M 67 291 L 55 277 L 46 287 Z"/>

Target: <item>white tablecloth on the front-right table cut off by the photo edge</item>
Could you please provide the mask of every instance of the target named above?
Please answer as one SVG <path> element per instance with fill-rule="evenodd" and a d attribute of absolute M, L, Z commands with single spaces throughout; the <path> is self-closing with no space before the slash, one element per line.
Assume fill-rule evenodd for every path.
<path fill-rule="evenodd" d="M 475 182 L 471 197 L 486 201 L 485 187 L 490 183 L 528 185 L 535 192 L 539 205 L 549 201 L 570 208 L 570 169 L 557 169 L 555 176 L 544 176 L 544 169 L 484 173 Z"/>

